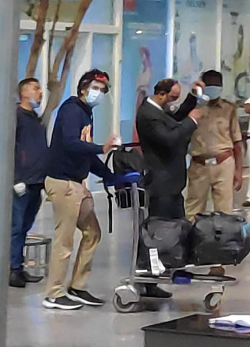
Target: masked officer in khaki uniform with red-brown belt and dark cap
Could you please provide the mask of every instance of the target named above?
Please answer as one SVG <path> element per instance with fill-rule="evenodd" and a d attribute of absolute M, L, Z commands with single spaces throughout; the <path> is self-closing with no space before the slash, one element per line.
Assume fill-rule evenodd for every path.
<path fill-rule="evenodd" d="M 202 81 L 210 102 L 201 108 L 202 116 L 191 139 L 185 202 L 188 219 L 205 212 L 210 190 L 214 210 L 231 213 L 233 188 L 239 191 L 242 187 L 242 137 L 236 107 L 220 98 L 223 78 L 219 72 L 207 71 Z"/>

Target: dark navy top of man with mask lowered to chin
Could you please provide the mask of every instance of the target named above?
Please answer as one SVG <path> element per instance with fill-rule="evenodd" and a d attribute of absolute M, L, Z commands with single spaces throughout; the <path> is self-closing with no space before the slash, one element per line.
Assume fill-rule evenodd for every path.
<path fill-rule="evenodd" d="M 17 106 L 15 184 L 43 183 L 47 174 L 46 128 L 35 111 Z"/>

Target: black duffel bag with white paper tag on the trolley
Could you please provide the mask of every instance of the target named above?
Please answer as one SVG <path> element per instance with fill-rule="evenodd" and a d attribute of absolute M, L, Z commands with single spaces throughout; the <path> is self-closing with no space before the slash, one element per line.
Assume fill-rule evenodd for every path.
<path fill-rule="evenodd" d="M 140 228 L 138 264 L 149 268 L 149 249 L 157 248 L 166 268 L 180 268 L 188 263 L 188 235 L 192 223 L 187 219 L 147 218 Z"/>

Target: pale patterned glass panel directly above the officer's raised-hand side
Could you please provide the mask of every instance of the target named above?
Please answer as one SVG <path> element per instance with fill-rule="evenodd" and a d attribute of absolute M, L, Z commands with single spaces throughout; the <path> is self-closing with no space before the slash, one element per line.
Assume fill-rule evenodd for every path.
<path fill-rule="evenodd" d="M 183 97 L 202 71 L 216 68 L 217 0 L 176 1 L 174 78 Z"/>

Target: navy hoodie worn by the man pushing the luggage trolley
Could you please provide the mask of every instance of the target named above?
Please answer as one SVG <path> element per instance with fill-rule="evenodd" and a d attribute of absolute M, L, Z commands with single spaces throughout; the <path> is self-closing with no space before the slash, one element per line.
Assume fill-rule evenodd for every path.
<path fill-rule="evenodd" d="M 92 109 L 79 98 L 72 96 L 58 111 L 51 146 L 48 176 L 81 183 L 89 172 L 104 177 L 105 166 L 97 154 L 103 147 L 81 141 L 81 132 L 91 125 L 93 132 Z M 108 180 L 113 175 L 108 171 Z"/>

